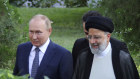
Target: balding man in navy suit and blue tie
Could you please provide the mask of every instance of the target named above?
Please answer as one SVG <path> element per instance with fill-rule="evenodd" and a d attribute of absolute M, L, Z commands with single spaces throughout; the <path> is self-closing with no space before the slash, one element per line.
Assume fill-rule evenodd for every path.
<path fill-rule="evenodd" d="M 20 44 L 17 48 L 14 75 L 29 74 L 33 79 L 71 79 L 73 61 L 71 53 L 53 43 L 51 21 L 38 14 L 29 22 L 29 38 L 31 42 Z"/>

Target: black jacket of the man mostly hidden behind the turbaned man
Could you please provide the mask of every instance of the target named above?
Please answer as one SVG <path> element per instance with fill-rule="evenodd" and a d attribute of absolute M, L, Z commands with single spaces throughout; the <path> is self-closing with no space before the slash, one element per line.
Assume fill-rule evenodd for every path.
<path fill-rule="evenodd" d="M 122 49 L 125 52 L 128 52 L 128 48 L 124 42 L 121 42 L 114 38 L 110 38 L 110 42 L 112 43 L 112 45 L 117 45 L 116 46 L 117 49 Z M 77 58 L 81 54 L 80 51 L 82 51 L 83 49 L 85 49 L 87 47 L 89 47 L 89 42 L 86 38 L 80 38 L 75 41 L 73 49 L 72 49 L 73 67 L 74 68 L 76 65 Z"/>

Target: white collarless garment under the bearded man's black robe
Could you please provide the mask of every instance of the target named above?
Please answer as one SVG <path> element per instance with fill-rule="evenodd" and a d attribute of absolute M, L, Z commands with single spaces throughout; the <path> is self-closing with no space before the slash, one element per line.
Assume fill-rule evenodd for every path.
<path fill-rule="evenodd" d="M 89 79 L 116 79 L 112 66 L 110 43 L 101 54 L 94 55 Z"/>

